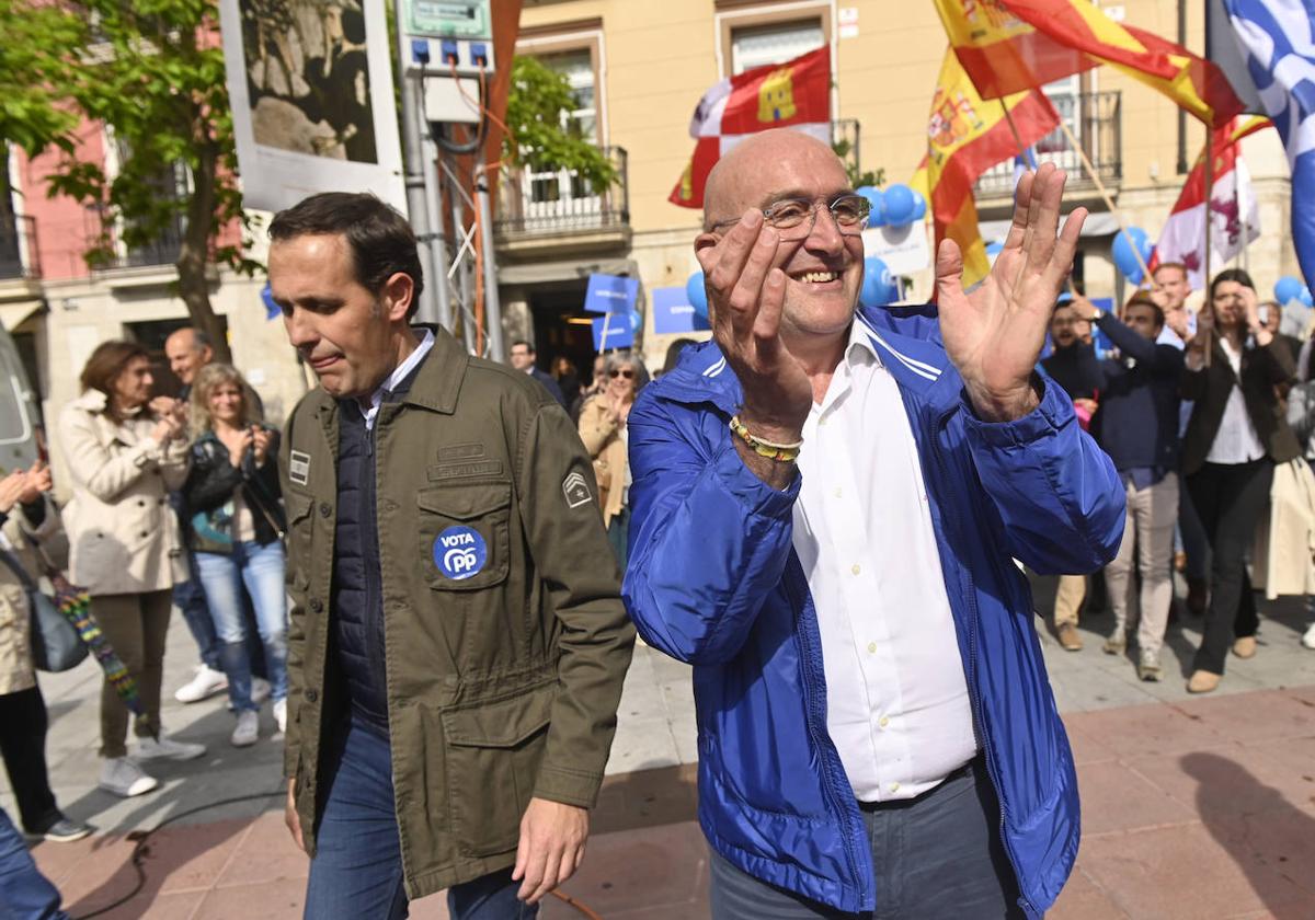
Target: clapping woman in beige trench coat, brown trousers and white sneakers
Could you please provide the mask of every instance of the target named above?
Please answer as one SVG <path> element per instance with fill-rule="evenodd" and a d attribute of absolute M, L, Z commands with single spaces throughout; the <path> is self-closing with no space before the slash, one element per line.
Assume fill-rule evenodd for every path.
<path fill-rule="evenodd" d="M 64 509 L 70 572 L 92 614 L 137 681 L 145 715 L 128 757 L 129 711 L 107 681 L 100 695 L 100 786 L 141 795 L 159 783 L 139 760 L 205 753 L 160 735 L 164 637 L 175 580 L 187 577 L 168 492 L 187 478 L 185 406 L 151 402 L 151 363 L 130 342 L 103 342 L 82 372 L 83 394 L 59 415 L 74 497 Z"/>

